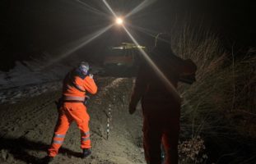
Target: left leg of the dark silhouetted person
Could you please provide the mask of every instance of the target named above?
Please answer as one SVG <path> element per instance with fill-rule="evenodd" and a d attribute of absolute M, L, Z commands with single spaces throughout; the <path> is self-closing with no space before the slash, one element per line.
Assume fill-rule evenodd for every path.
<path fill-rule="evenodd" d="M 150 125 L 147 118 L 143 121 L 143 147 L 148 164 L 161 164 L 161 130 Z"/>

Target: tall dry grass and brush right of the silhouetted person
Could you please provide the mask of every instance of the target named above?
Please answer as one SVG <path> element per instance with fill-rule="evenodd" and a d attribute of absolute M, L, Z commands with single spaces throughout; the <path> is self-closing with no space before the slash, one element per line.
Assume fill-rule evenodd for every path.
<path fill-rule="evenodd" d="M 173 34 L 175 53 L 198 66 L 197 81 L 179 86 L 184 98 L 180 159 L 182 163 L 254 163 L 256 51 L 235 57 L 216 35 L 202 31 L 184 27 Z"/>

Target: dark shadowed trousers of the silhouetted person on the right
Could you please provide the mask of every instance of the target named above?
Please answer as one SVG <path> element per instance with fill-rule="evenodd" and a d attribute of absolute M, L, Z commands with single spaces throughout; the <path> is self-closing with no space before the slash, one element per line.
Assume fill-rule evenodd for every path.
<path fill-rule="evenodd" d="M 178 164 L 179 115 L 172 116 L 170 107 L 165 107 L 142 104 L 143 147 L 148 164 L 161 164 L 161 144 L 165 149 L 165 164 Z"/>

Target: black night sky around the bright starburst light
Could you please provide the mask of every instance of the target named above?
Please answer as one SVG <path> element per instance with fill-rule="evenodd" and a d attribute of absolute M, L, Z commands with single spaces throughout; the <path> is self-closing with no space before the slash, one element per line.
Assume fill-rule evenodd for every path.
<path fill-rule="evenodd" d="M 93 13 L 83 7 L 86 2 L 101 11 Z M 11 69 L 15 61 L 30 60 L 92 34 L 112 23 L 113 17 L 101 0 L 2 0 L 1 5 L 1 67 Z M 109 0 L 110 6 L 120 15 L 125 15 L 140 4 L 141 0 Z M 168 31 L 174 18 L 182 20 L 191 16 L 196 20 L 204 17 L 205 25 L 221 37 L 223 45 L 236 51 L 255 47 L 255 2 L 238 0 L 158 0 L 128 18 L 132 25 L 151 30 L 152 34 Z M 192 21 L 193 22 L 193 21 Z M 195 21 L 196 22 L 196 21 Z M 196 24 L 196 23 L 195 23 Z M 193 24 L 192 24 L 193 25 Z M 147 46 L 153 38 L 138 30 L 134 37 Z M 96 57 L 109 46 L 131 42 L 127 34 L 113 27 L 76 53 L 84 57 Z M 86 55 L 84 55 L 86 54 Z"/>

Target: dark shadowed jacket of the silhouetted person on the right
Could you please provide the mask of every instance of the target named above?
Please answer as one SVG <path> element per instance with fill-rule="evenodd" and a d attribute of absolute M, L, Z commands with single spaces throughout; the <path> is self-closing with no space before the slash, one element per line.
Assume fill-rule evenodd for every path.
<path fill-rule="evenodd" d="M 149 57 L 161 72 L 157 71 L 155 66 L 149 64 L 150 62 L 147 60 L 142 60 L 130 104 L 136 106 L 138 101 L 142 99 L 142 107 L 143 104 L 162 108 L 165 108 L 166 104 L 167 106 L 170 104 L 179 107 L 180 102 L 175 98 L 177 92 L 176 90 L 172 92 L 172 90 L 177 88 L 180 75 L 195 74 L 197 66 L 190 59 L 183 60 L 175 56 L 173 52 L 161 52 L 157 48 L 150 53 Z M 172 89 L 161 74 L 172 85 Z"/>

